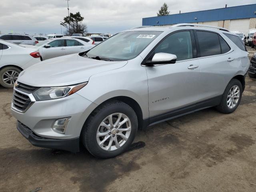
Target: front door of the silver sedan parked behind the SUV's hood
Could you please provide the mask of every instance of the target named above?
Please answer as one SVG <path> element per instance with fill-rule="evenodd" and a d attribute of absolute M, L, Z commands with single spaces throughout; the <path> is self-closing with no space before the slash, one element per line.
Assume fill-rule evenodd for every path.
<path fill-rule="evenodd" d="M 48 44 L 51 46 L 50 48 L 42 47 L 43 60 L 66 55 L 64 39 L 54 40 Z"/>

